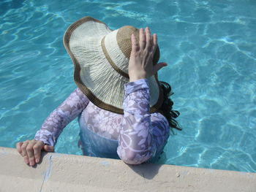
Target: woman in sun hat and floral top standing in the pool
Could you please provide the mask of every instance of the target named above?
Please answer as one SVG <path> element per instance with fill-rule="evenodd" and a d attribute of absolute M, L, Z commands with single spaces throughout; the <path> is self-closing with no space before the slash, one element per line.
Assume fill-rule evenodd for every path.
<path fill-rule="evenodd" d="M 159 82 L 157 35 L 149 28 L 115 31 L 86 17 L 64 34 L 78 88 L 54 110 L 33 140 L 17 143 L 26 164 L 38 163 L 41 150 L 54 151 L 61 131 L 78 117 L 83 155 L 121 158 L 127 164 L 157 160 L 177 128 L 170 85 Z M 170 127 L 170 128 L 169 128 Z"/>

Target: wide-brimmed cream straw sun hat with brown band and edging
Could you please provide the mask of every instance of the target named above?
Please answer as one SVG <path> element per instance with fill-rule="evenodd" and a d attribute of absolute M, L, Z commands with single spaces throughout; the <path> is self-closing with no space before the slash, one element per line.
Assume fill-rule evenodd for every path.
<path fill-rule="evenodd" d="M 75 66 L 74 79 L 89 100 L 104 110 L 124 114 L 124 84 L 129 82 L 128 65 L 132 50 L 131 35 L 139 40 L 139 30 L 124 26 L 111 30 L 91 17 L 72 23 L 64 34 L 64 46 Z M 154 55 L 159 60 L 159 48 Z M 162 105 L 162 90 L 157 74 L 148 78 L 150 112 Z"/>

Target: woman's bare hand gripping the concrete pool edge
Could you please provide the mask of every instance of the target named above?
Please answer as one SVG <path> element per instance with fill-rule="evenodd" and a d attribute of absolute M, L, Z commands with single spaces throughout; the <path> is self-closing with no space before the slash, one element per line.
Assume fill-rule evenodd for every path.
<path fill-rule="evenodd" d="M 16 144 L 18 153 L 23 156 L 26 164 L 34 166 L 35 163 L 40 161 L 41 150 L 46 152 L 54 152 L 54 147 L 50 145 L 45 145 L 42 141 L 26 140 L 26 142 L 18 142 Z"/>

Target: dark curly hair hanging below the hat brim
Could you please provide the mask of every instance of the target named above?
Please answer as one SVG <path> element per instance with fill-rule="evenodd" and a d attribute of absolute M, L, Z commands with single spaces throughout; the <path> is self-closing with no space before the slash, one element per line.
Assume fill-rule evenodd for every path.
<path fill-rule="evenodd" d="M 167 119 L 171 131 L 173 132 L 173 128 L 178 129 L 181 131 L 182 128 L 179 126 L 178 122 L 175 120 L 180 115 L 180 112 L 173 110 L 173 101 L 169 98 L 173 95 L 172 88 L 167 82 L 159 81 L 160 88 L 162 88 L 163 93 L 163 101 L 162 106 L 159 108 L 159 112 L 165 116 Z M 173 134 L 175 134 L 173 132 Z"/>

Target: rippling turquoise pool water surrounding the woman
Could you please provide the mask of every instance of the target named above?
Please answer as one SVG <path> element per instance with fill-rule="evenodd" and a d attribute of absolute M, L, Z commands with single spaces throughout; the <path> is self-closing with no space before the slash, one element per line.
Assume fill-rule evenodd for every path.
<path fill-rule="evenodd" d="M 150 26 L 158 34 L 160 80 L 173 86 L 184 128 L 160 163 L 256 172 L 256 1 L 1 1 L 0 146 L 33 139 L 75 89 L 62 37 L 91 15 L 110 28 Z M 81 155 L 78 123 L 56 152 Z"/>

